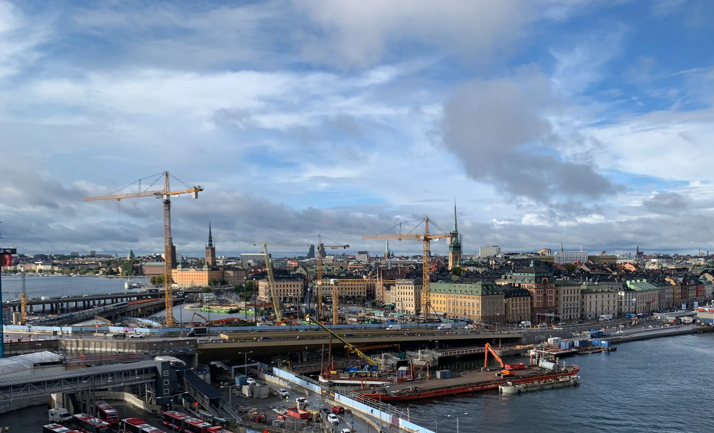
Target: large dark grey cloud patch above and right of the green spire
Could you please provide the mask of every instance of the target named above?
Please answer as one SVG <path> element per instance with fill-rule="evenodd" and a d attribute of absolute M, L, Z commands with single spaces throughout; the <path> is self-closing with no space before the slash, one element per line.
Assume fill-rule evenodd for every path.
<path fill-rule="evenodd" d="M 443 142 L 468 176 L 507 196 L 552 203 L 618 191 L 593 163 L 558 154 L 578 139 L 555 133 L 547 117 L 559 106 L 548 78 L 533 67 L 503 79 L 471 81 L 446 103 Z"/>

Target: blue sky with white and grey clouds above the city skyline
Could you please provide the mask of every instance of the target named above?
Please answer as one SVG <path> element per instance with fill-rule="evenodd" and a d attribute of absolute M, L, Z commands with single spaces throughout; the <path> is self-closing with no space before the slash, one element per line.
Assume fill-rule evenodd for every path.
<path fill-rule="evenodd" d="M 191 256 L 455 202 L 465 253 L 714 251 L 713 5 L 0 0 L 0 242 L 161 252 L 160 201 L 83 198 L 168 170 Z"/>

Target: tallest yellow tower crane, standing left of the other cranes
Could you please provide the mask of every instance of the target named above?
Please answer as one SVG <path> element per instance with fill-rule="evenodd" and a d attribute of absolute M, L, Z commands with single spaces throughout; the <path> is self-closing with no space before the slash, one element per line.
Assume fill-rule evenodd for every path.
<path fill-rule="evenodd" d="M 154 178 L 156 180 L 154 183 L 149 185 L 144 191 L 141 190 L 141 181 L 144 179 Z M 201 186 L 188 186 L 184 184 L 183 181 L 174 177 L 177 181 L 181 182 L 186 189 L 171 191 L 169 187 L 169 171 L 164 171 L 161 174 L 156 174 L 154 176 L 145 177 L 144 179 L 139 179 L 139 191 L 129 192 L 126 194 L 109 194 L 106 196 L 89 196 L 84 197 L 84 201 L 94 201 L 94 200 L 121 200 L 121 199 L 134 199 L 136 197 L 151 197 L 155 196 L 157 199 L 161 198 L 164 203 L 164 292 L 166 297 L 166 326 L 174 324 L 174 293 L 171 292 L 171 257 L 173 256 L 173 240 L 171 239 L 171 196 L 178 196 L 181 194 L 191 194 L 193 199 L 198 199 L 198 191 L 203 191 Z M 149 189 L 154 184 L 156 184 L 161 177 L 164 177 L 164 189 Z M 127 185 L 131 186 L 136 184 L 136 182 Z M 124 186 L 126 188 L 126 186 Z M 124 189 L 121 188 L 121 189 Z M 117 190 L 119 191 L 119 190 Z"/>

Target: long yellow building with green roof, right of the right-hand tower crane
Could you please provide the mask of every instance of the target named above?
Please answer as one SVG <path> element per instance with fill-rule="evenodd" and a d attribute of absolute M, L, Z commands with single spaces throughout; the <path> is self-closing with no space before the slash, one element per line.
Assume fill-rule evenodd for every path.
<path fill-rule="evenodd" d="M 431 304 L 436 312 L 480 323 L 505 323 L 501 287 L 491 281 L 473 284 L 431 283 Z"/>

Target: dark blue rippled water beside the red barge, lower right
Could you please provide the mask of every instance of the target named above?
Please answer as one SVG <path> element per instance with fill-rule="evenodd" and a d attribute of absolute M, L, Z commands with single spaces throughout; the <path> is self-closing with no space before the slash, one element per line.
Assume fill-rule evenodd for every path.
<path fill-rule="evenodd" d="M 417 401 L 409 404 L 412 422 L 453 433 L 456 415 L 468 412 L 459 432 L 713 432 L 713 347 L 712 334 L 624 343 L 566 358 L 580 366 L 578 387 Z"/>

